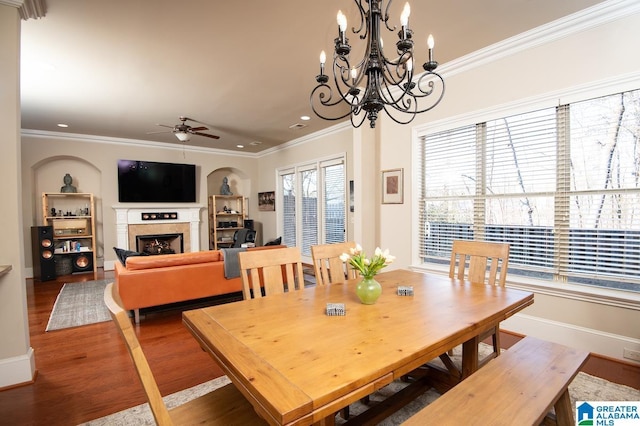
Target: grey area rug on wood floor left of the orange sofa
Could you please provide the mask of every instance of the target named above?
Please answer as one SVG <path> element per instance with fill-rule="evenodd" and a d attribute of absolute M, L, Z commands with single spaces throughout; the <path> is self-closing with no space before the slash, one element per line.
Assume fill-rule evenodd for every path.
<path fill-rule="evenodd" d="M 45 331 L 111 320 L 104 304 L 104 288 L 113 280 L 66 283 L 53 305 Z"/>

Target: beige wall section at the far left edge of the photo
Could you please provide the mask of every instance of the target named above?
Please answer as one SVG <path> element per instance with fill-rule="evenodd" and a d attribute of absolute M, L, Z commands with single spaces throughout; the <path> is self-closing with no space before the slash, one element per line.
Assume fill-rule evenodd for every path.
<path fill-rule="evenodd" d="M 0 265 L 0 388 L 28 382 L 35 374 L 29 342 L 24 239 L 20 200 L 20 18 L 18 9 L 0 4 L 0 221 L 4 224 Z"/>

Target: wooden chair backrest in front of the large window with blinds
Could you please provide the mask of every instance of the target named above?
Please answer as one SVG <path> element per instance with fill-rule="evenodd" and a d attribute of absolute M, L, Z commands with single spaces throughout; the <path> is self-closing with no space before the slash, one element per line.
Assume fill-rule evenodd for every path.
<path fill-rule="evenodd" d="M 451 249 L 449 277 L 504 287 L 508 265 L 509 244 L 455 240 Z"/>

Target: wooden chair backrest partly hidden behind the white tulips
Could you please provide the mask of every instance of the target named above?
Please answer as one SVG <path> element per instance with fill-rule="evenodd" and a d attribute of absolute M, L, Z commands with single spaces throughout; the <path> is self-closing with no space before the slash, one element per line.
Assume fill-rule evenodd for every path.
<path fill-rule="evenodd" d="M 358 276 L 357 271 L 349 264 L 340 260 L 342 253 L 350 253 L 356 243 L 347 241 L 344 243 L 320 244 L 311 246 L 313 269 L 316 274 L 316 284 L 326 285 L 334 282 L 342 282 Z"/>

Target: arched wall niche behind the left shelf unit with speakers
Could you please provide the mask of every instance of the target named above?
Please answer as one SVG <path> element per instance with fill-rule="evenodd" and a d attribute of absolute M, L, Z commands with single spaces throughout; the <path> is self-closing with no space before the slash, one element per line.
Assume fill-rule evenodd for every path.
<path fill-rule="evenodd" d="M 64 185 L 64 175 L 69 173 L 73 178 L 73 186 L 78 192 L 93 194 L 94 214 L 96 221 L 96 256 L 98 266 L 104 262 L 104 238 L 102 218 L 102 172 L 87 160 L 74 156 L 56 156 L 46 158 L 32 167 L 33 187 L 35 189 L 32 201 L 34 218 L 32 225 L 42 223 L 42 193 L 60 192 Z M 28 251 L 31 252 L 30 249 Z"/>

